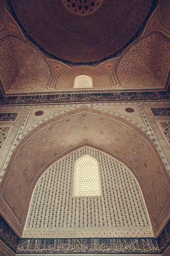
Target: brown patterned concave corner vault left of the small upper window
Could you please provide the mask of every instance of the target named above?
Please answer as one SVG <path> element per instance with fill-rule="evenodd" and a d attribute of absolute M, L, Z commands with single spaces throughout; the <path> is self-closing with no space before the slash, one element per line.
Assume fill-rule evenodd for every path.
<path fill-rule="evenodd" d="M 51 71 L 43 55 L 26 41 L 5 38 L 0 42 L 1 78 L 6 93 L 46 90 Z"/>

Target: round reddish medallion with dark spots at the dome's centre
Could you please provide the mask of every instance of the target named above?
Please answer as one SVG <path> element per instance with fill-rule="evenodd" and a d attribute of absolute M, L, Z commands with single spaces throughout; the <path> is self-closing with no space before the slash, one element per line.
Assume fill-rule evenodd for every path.
<path fill-rule="evenodd" d="M 95 12 L 103 0 L 62 0 L 65 7 L 77 15 L 89 15 Z"/>

